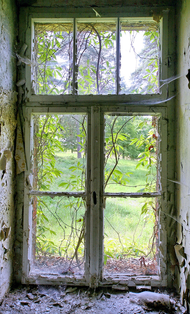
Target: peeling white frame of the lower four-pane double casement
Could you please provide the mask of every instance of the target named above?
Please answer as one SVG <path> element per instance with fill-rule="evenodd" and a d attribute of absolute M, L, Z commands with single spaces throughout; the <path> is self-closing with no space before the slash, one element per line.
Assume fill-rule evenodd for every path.
<path fill-rule="evenodd" d="M 161 205 L 159 208 L 159 252 L 157 256 L 157 263 L 160 276 L 120 276 L 109 275 L 109 278 L 103 276 L 103 197 L 143 197 L 143 193 L 104 193 L 103 194 L 103 167 L 104 167 L 104 112 L 117 112 L 120 114 L 132 115 L 160 115 L 160 134 L 163 140 L 161 141 L 160 163 L 161 171 L 166 173 L 167 169 L 167 116 L 166 108 L 146 108 L 146 107 L 127 107 L 127 106 L 92 106 L 92 107 L 27 107 L 26 119 L 28 123 L 25 126 L 25 154 L 27 161 L 27 171 L 25 171 L 25 187 L 24 187 L 24 239 L 23 239 L 23 283 L 31 284 L 78 284 L 98 286 L 105 284 L 125 283 L 129 286 L 136 284 L 146 285 L 162 285 L 166 286 L 166 198 L 163 195 L 166 193 L 166 185 L 164 181 L 161 183 L 161 193 L 150 193 L 148 197 L 160 196 Z M 92 193 L 88 184 L 85 192 L 31 192 L 29 182 L 32 181 L 32 148 L 33 148 L 33 115 L 37 114 L 78 114 L 87 112 L 87 173 L 91 169 L 91 191 L 97 191 L 100 195 L 97 205 L 93 205 Z M 98 131 L 97 131 L 98 125 Z M 97 141 L 98 136 L 98 141 Z M 93 139 L 94 137 L 94 139 Z M 90 142 L 90 143 L 89 143 Z M 89 144 L 88 144 L 89 143 Z M 91 145 L 94 143 L 94 145 Z M 97 145 L 97 147 L 96 147 Z M 98 158 L 94 158 L 97 155 Z M 100 169 L 101 171 L 99 171 Z M 93 180 L 96 178 L 96 180 Z M 88 179 L 88 178 L 86 178 Z M 166 184 L 166 181 L 165 181 Z M 85 248 L 85 276 L 76 276 L 71 279 L 66 275 L 39 275 L 31 273 L 31 254 L 32 254 L 32 195 L 46 195 L 46 196 L 73 196 L 78 195 L 86 198 L 86 248 Z M 161 230 L 160 230 L 161 229 Z M 89 261 L 89 253 L 92 257 Z M 96 258 L 95 258 L 96 257 Z M 98 270 L 98 271 L 97 271 Z M 96 276 L 95 276 L 96 274 Z M 96 277 L 96 278 L 95 278 Z"/>

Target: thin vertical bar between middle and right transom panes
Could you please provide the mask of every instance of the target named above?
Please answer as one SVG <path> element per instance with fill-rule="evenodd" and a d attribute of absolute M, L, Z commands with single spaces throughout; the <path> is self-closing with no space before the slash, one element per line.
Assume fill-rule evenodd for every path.
<path fill-rule="evenodd" d="M 116 94 L 119 95 L 119 69 L 120 69 L 120 19 L 116 23 Z"/>

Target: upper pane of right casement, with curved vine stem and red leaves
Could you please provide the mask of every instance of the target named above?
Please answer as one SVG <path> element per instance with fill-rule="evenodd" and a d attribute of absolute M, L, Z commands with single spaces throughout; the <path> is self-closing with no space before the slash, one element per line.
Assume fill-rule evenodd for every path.
<path fill-rule="evenodd" d="M 158 116 L 105 115 L 105 192 L 159 191 Z"/>

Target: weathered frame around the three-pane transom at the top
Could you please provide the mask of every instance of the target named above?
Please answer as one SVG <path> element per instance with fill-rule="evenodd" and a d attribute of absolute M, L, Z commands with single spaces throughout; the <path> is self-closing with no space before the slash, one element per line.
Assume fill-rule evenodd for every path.
<path fill-rule="evenodd" d="M 128 8 L 129 10 L 129 8 Z M 28 46 L 27 47 L 27 57 L 29 57 L 30 60 L 34 61 L 34 23 L 35 22 L 73 22 L 73 27 L 76 31 L 76 25 L 77 21 L 85 21 L 89 19 L 90 21 L 116 21 L 116 68 L 119 68 L 119 39 L 120 39 L 120 23 L 123 21 L 129 21 L 129 22 L 152 22 L 154 21 L 152 17 L 150 17 L 150 12 L 143 11 L 141 13 L 136 12 L 136 14 L 131 13 L 104 13 L 101 18 L 94 18 L 94 14 L 81 14 L 81 13 L 59 13 L 55 14 L 55 17 L 52 17 L 52 14 L 50 13 L 35 13 L 35 12 L 28 12 L 26 13 L 26 9 L 22 12 L 22 20 L 20 21 L 20 32 L 25 34 L 25 43 Z M 25 18 L 25 19 L 24 19 Z M 162 18 L 160 19 L 160 86 L 162 86 L 162 80 L 165 80 L 167 78 L 167 62 L 168 62 L 168 52 L 167 52 L 167 41 L 168 41 L 168 11 L 163 11 Z M 76 33 L 73 33 L 74 38 L 73 42 L 76 42 Z M 76 45 L 73 45 L 73 55 L 75 55 L 76 52 Z M 26 66 L 25 67 L 25 73 L 23 73 L 24 77 L 26 78 L 26 92 L 25 97 L 26 100 L 29 102 L 41 102 L 41 100 L 47 103 L 50 103 L 52 101 L 57 101 L 58 103 L 61 102 L 70 102 L 73 100 L 82 101 L 87 96 L 90 96 L 90 100 L 99 102 L 100 95 L 33 95 L 33 68 Z M 73 72 L 75 73 L 75 65 L 73 65 Z M 73 76 L 73 84 L 75 84 Z M 32 92 L 31 92 L 32 90 Z M 74 92 L 73 92 L 74 94 Z M 134 94 L 129 95 L 118 95 L 119 94 L 119 71 L 116 71 L 116 95 L 108 95 L 109 101 L 118 101 L 118 97 L 121 101 L 134 101 Z M 145 101 L 145 100 L 151 100 L 152 96 L 154 95 L 154 100 L 158 101 L 164 101 L 167 98 L 167 85 L 163 85 L 160 87 L 160 93 L 159 94 L 145 94 L 145 95 L 135 95 L 135 98 L 137 101 Z M 101 95 L 101 98 L 103 100 L 103 97 L 106 97 L 106 95 Z"/>

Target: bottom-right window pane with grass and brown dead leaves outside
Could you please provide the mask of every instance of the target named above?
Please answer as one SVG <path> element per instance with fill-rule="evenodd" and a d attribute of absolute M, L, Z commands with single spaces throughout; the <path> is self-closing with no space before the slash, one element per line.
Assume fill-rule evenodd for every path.
<path fill-rule="evenodd" d="M 157 198 L 107 198 L 104 209 L 104 275 L 156 275 Z"/>

